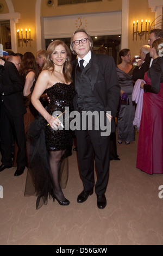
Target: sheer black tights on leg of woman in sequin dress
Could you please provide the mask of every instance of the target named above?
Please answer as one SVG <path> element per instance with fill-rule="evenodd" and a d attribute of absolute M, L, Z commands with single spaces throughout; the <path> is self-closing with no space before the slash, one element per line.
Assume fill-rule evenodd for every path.
<path fill-rule="evenodd" d="M 53 182 L 53 192 L 55 197 L 60 201 L 64 201 L 66 199 L 64 197 L 64 193 L 62 192 L 59 184 L 59 167 L 60 167 L 61 157 L 64 154 L 64 152 L 65 152 L 64 150 L 59 150 L 59 151 L 51 151 L 49 153 L 51 179 Z"/>

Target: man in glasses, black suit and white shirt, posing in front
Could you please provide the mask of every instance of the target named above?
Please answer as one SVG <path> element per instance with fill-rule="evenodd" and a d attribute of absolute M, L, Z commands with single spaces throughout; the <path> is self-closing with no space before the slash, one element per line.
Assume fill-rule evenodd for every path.
<path fill-rule="evenodd" d="M 112 117 L 117 113 L 120 99 L 120 86 L 118 83 L 114 59 L 108 55 L 91 52 L 93 42 L 84 29 L 78 29 L 71 38 L 71 50 L 78 58 L 72 62 L 72 78 L 77 95 L 74 97 L 74 109 L 80 113 L 82 122 L 85 113 L 94 111 L 108 115 L 112 125 Z M 82 60 L 82 64 L 80 64 Z M 90 115 L 87 115 L 87 121 Z M 103 125 L 104 125 L 103 124 Z M 107 123 L 108 124 L 108 123 Z M 113 124 L 114 125 L 114 124 Z M 107 126 L 106 126 L 107 127 Z M 106 206 L 105 191 L 109 179 L 109 143 L 110 136 L 102 135 L 101 127 L 96 130 L 95 120 L 92 118 L 92 129 L 88 122 L 86 129 L 76 130 L 78 145 L 79 171 L 82 177 L 84 190 L 79 194 L 77 202 L 83 203 L 93 193 L 97 195 L 97 206 L 103 209 Z M 94 157 L 97 172 L 95 185 Z"/>

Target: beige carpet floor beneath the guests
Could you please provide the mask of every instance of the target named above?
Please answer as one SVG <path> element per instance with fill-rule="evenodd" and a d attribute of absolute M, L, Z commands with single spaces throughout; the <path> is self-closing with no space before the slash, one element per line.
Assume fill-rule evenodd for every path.
<path fill-rule="evenodd" d="M 36 210 L 36 197 L 23 196 L 27 169 L 17 177 L 16 168 L 5 169 L 0 173 L 0 245 L 163 245 L 163 175 L 136 169 L 137 137 L 129 145 L 117 144 L 121 161 L 110 162 L 103 210 L 97 208 L 95 193 L 77 203 L 83 186 L 75 151 L 64 190 L 68 206 L 49 200 Z"/>

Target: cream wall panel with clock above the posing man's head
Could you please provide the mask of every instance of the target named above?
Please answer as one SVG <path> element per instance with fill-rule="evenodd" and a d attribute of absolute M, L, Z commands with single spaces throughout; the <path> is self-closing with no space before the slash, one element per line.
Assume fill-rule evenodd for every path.
<path fill-rule="evenodd" d="M 90 35 L 116 35 L 121 34 L 122 12 L 44 17 L 43 20 L 45 39 L 71 37 L 79 26 Z"/>

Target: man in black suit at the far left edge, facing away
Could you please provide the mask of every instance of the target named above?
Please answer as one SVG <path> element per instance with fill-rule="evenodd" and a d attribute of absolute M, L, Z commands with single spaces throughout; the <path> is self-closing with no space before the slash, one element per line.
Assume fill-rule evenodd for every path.
<path fill-rule="evenodd" d="M 17 59 L 18 60 L 18 59 Z M 17 169 L 15 176 L 21 175 L 26 167 L 26 137 L 24 133 L 23 115 L 26 113 L 22 90 L 23 84 L 16 64 L 5 62 L 3 80 L 1 80 L 1 153 L 0 172 L 12 167 L 11 147 L 14 135 L 17 145 Z"/>

